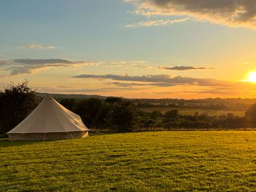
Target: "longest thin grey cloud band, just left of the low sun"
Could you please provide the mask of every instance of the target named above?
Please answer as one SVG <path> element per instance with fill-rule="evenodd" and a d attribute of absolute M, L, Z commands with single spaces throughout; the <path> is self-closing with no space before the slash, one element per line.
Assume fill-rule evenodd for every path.
<path fill-rule="evenodd" d="M 159 87 L 170 87 L 175 85 L 198 85 L 198 86 L 215 86 L 215 87 L 230 87 L 233 82 L 226 80 L 216 80 L 210 78 L 189 78 L 180 75 L 171 77 L 171 75 L 76 75 L 73 78 L 94 78 L 94 79 L 108 79 L 119 81 L 136 81 L 136 82 L 151 82 L 151 85 Z"/>

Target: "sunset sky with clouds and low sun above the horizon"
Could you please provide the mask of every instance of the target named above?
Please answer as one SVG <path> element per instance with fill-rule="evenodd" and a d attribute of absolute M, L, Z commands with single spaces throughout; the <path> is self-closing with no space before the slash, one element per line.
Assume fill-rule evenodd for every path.
<path fill-rule="evenodd" d="M 254 0 L 2 0 L 0 87 L 256 97 Z"/>

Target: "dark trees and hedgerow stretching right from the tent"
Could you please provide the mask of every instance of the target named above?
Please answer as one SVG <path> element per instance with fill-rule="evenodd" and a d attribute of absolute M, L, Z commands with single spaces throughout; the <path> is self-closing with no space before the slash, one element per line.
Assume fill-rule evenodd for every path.
<path fill-rule="evenodd" d="M 256 126 L 256 105 L 252 105 L 244 116 L 232 113 L 220 116 L 208 114 L 180 114 L 178 110 L 169 110 L 165 114 L 140 111 L 133 102 L 118 97 L 105 100 L 90 98 L 75 102 L 64 99 L 60 104 L 79 114 L 89 127 L 129 132 L 142 128 L 164 129 L 245 129 Z"/>

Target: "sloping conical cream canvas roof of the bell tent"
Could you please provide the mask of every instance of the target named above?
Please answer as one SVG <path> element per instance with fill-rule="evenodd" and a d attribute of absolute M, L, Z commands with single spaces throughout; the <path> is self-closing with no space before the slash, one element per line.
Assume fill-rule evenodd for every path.
<path fill-rule="evenodd" d="M 78 114 L 46 95 L 31 114 L 7 134 L 88 131 Z"/>

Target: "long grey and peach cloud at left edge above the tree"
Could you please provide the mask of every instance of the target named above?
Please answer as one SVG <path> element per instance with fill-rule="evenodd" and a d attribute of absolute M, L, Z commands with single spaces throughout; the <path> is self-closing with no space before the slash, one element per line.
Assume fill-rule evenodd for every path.
<path fill-rule="evenodd" d="M 0 68 L 10 70 L 10 75 L 31 74 L 48 68 L 77 68 L 82 65 L 100 65 L 94 61 L 73 61 L 65 59 L 13 59 L 0 60 Z"/>

